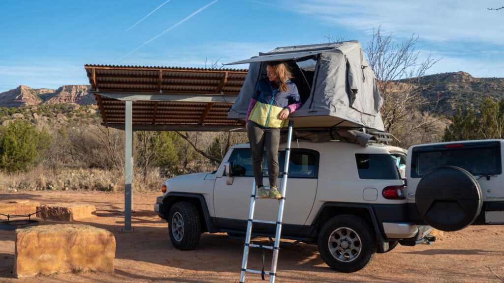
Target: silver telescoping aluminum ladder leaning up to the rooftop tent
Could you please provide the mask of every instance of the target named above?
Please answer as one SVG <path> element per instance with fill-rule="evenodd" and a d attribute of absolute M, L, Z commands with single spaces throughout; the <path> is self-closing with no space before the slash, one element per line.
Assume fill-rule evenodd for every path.
<path fill-rule="evenodd" d="M 292 139 L 292 128 L 294 126 L 294 121 L 289 120 L 289 133 L 287 135 L 287 146 L 285 148 L 285 163 L 284 163 L 284 171 L 282 178 L 282 185 L 280 187 L 280 203 L 278 205 L 278 219 L 277 221 L 266 221 L 266 220 L 255 220 L 254 219 L 254 209 L 256 205 L 256 181 L 254 180 L 254 187 L 252 188 L 252 194 L 250 195 L 250 211 L 248 212 L 248 224 L 247 224 L 247 233 L 245 236 L 245 247 L 243 249 L 243 260 L 241 262 L 241 273 L 240 273 L 240 283 L 245 282 L 245 273 L 257 273 L 261 274 L 263 279 L 264 275 L 270 276 L 270 283 L 275 282 L 276 272 L 277 272 L 277 262 L 278 262 L 278 251 L 280 247 L 280 234 L 282 232 L 282 218 L 283 218 L 283 210 L 285 205 L 285 192 L 287 190 L 287 172 L 289 172 L 289 159 L 290 159 L 290 141 Z M 265 245 L 257 245 L 250 243 L 250 238 L 252 234 L 252 224 L 253 223 L 266 223 L 266 224 L 276 224 L 277 231 L 275 233 L 275 243 L 273 246 L 265 246 Z M 247 260 L 248 260 L 248 251 L 249 248 L 262 248 L 267 250 L 273 250 L 273 259 L 271 261 L 271 270 L 264 271 L 263 270 L 254 270 L 247 269 Z M 264 254 L 263 254 L 264 261 Z M 264 263 L 264 262 L 263 262 Z"/>

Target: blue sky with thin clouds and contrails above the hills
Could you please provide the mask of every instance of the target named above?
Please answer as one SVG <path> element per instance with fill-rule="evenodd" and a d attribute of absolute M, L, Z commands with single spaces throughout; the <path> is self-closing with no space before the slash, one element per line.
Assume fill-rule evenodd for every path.
<path fill-rule="evenodd" d="M 328 35 L 365 46 L 380 25 L 397 42 L 418 35 L 420 58 L 442 58 L 429 74 L 504 77 L 504 10 L 487 10 L 502 6 L 501 0 L 2 0 L 0 92 L 88 84 L 86 63 L 204 67 L 205 58 L 208 65 L 231 62 L 325 42 Z"/>

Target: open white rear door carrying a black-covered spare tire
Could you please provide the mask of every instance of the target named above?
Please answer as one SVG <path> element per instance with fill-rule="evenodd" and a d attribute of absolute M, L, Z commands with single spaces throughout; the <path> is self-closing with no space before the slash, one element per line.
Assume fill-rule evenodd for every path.
<path fill-rule="evenodd" d="M 443 231 L 504 224 L 503 160 L 502 139 L 410 147 L 409 219 Z"/>

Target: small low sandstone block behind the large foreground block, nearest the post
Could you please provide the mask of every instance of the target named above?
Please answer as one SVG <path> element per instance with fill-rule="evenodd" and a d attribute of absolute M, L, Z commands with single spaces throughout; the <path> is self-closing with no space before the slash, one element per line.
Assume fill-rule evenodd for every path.
<path fill-rule="evenodd" d="M 96 208 L 91 204 L 52 203 L 38 207 L 38 218 L 52 221 L 72 222 L 96 218 Z"/>

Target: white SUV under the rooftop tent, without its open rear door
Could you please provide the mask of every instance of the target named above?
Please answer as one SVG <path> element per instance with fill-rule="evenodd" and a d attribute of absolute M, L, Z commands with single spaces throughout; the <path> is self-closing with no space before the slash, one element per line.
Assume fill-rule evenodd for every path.
<path fill-rule="evenodd" d="M 397 166 L 406 163 L 405 153 L 384 145 L 292 142 L 282 238 L 318 244 L 324 261 L 343 272 L 363 268 L 398 242 L 435 240 L 430 226 L 408 218 Z M 280 168 L 284 154 L 280 145 Z M 163 186 L 154 210 L 178 249 L 195 248 L 204 232 L 243 235 L 253 186 L 249 145 L 233 146 L 215 172 L 177 176 Z M 258 199 L 255 219 L 276 221 L 277 214 L 277 200 Z M 257 223 L 253 235 L 274 237 L 275 228 Z"/>

